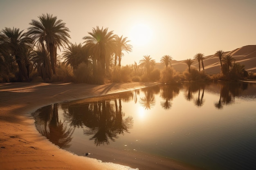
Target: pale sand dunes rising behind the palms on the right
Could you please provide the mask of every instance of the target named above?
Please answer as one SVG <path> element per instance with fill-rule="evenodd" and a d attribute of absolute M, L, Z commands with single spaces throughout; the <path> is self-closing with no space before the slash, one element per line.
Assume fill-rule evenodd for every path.
<path fill-rule="evenodd" d="M 221 49 L 220 49 L 221 50 Z M 216 50 L 218 51 L 218 50 Z M 200 53 L 200 51 L 198 52 Z M 248 72 L 256 73 L 256 45 L 247 45 L 243 46 L 238 49 L 234 49 L 233 51 L 227 51 L 224 53 L 225 55 L 231 55 L 236 62 L 240 63 L 241 65 L 245 65 L 245 70 Z M 188 59 L 193 59 L 193 56 L 188 57 Z M 187 64 L 182 61 L 172 61 L 172 67 L 179 72 L 183 72 L 188 68 Z M 191 68 L 198 69 L 198 61 L 193 60 L 193 64 Z M 220 73 L 220 60 L 219 57 L 215 54 L 204 56 L 204 71 L 208 74 L 217 74 Z M 165 65 L 163 63 L 157 63 L 156 68 L 162 69 Z M 202 71 L 202 65 L 201 65 Z"/>

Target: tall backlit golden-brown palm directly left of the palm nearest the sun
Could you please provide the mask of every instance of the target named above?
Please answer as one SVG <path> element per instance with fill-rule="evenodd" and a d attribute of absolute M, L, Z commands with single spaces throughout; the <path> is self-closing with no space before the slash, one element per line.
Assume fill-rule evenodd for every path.
<path fill-rule="evenodd" d="M 99 26 L 92 29 L 92 32 L 88 32 L 90 36 L 83 37 L 85 46 L 90 49 L 90 53 L 93 57 L 94 67 L 97 62 L 101 66 L 102 74 L 105 76 L 106 59 L 110 58 L 110 55 L 115 48 L 115 36 L 113 31 L 108 32 L 108 28 L 100 29 Z"/>

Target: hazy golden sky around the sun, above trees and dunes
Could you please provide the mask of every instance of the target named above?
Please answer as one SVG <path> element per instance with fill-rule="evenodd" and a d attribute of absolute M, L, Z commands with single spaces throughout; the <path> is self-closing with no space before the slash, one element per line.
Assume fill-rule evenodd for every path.
<path fill-rule="evenodd" d="M 186 60 L 256 44 L 256 0 L 0 0 L 0 30 L 26 30 L 43 13 L 66 23 L 72 43 L 96 26 L 128 37 L 133 49 L 122 65 L 143 55 Z"/>

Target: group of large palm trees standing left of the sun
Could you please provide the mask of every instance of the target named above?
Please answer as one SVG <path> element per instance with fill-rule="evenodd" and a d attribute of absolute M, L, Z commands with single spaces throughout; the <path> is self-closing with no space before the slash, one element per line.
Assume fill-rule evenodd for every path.
<path fill-rule="evenodd" d="M 51 79 L 52 75 L 58 74 L 61 58 L 57 56 L 57 49 L 61 50 L 61 47 L 64 49 L 64 63 L 73 70 L 84 62 L 92 65 L 94 73 L 100 70 L 105 76 L 112 60 L 117 65 L 118 59 L 121 66 L 123 51 L 132 51 L 127 37 L 119 37 L 108 28 L 93 28 L 88 36 L 83 37 L 83 45 L 77 45 L 70 43 L 70 30 L 56 16 L 42 14 L 29 24 L 27 32 L 7 27 L 0 32 L 0 76 L 15 73 L 18 69 L 20 79 L 27 81 L 29 73 L 35 69 L 43 79 Z"/>

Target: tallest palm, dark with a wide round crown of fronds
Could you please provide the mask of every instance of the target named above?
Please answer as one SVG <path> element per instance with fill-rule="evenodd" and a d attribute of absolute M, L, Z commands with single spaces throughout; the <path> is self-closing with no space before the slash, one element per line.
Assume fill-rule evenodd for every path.
<path fill-rule="evenodd" d="M 60 49 L 61 46 L 68 44 L 70 30 L 65 26 L 66 24 L 62 20 L 58 20 L 56 16 L 50 14 L 42 14 L 38 17 L 38 20 L 32 20 L 29 24 L 29 34 L 36 43 L 45 49 L 50 54 L 51 66 L 53 74 L 56 74 L 57 65 L 57 47 Z"/>

